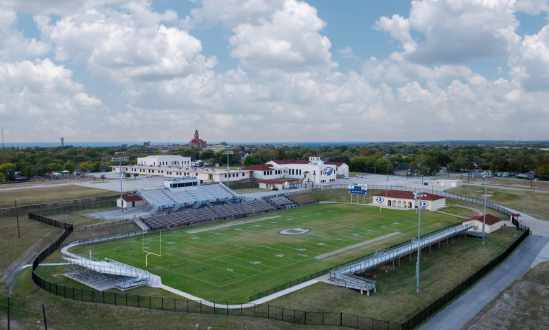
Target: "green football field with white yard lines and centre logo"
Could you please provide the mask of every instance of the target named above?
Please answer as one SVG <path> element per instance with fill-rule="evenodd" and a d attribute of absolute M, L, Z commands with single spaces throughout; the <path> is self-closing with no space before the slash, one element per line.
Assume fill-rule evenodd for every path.
<path fill-rule="evenodd" d="M 461 218 L 421 213 L 421 232 Z M 244 221 L 244 222 L 243 222 Z M 250 294 L 417 236 L 414 210 L 326 203 L 292 210 L 75 246 L 159 275 L 162 283 L 211 301 L 248 301 Z M 161 242 L 161 244 L 160 244 Z M 145 255 L 148 266 L 145 266 Z"/>

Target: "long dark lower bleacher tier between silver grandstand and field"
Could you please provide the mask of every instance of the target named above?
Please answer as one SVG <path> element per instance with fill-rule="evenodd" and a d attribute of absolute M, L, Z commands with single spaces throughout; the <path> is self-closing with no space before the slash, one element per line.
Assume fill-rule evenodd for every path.
<path fill-rule="evenodd" d="M 154 230 L 167 227 L 184 227 L 195 223 L 202 223 L 204 221 L 218 221 L 241 218 L 243 216 L 254 216 L 274 210 L 275 208 L 267 201 L 253 201 L 150 216 L 148 218 L 142 218 L 141 220 Z"/>

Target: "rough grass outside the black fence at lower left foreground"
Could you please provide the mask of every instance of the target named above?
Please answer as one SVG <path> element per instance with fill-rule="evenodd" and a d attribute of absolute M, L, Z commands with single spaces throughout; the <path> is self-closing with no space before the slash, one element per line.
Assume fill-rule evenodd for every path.
<path fill-rule="evenodd" d="M 6 297 L 5 294 L 0 294 L 2 301 L 5 301 Z M 45 305 L 48 329 L 311 329 L 305 325 L 294 325 L 268 318 L 164 312 L 82 303 L 40 289 L 32 281 L 30 268 L 26 268 L 16 279 L 12 289 L 11 327 L 43 329 L 42 303 Z M 6 314 L 5 303 L 0 303 L 0 316 L 5 317 Z M 0 321 L 0 327 L 7 329 L 5 318 Z"/>

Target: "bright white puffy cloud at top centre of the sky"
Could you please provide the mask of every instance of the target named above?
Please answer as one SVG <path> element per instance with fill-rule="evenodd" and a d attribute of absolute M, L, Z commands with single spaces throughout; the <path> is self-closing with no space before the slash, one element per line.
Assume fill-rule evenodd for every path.
<path fill-rule="evenodd" d="M 197 22 L 232 29 L 231 56 L 248 69 L 329 69 L 331 42 L 320 34 L 326 23 L 311 5 L 295 0 L 204 0 L 193 10 Z"/>

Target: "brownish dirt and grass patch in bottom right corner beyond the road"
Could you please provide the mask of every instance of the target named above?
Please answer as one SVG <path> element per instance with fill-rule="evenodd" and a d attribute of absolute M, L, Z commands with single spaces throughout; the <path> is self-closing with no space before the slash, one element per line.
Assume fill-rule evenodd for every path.
<path fill-rule="evenodd" d="M 464 329 L 546 329 L 549 262 L 531 268 L 489 303 Z"/>

